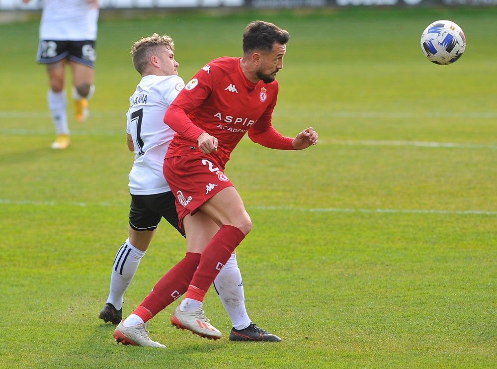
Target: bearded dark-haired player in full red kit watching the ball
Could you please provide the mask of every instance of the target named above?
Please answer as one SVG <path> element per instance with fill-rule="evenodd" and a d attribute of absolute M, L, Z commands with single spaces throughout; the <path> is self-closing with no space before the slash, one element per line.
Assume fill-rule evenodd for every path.
<path fill-rule="evenodd" d="M 165 291 L 177 292 L 177 298 L 188 283 L 171 323 L 203 337 L 221 337 L 203 315 L 203 298 L 252 228 L 242 198 L 223 172 L 226 162 L 245 133 L 273 149 L 302 150 L 318 140 L 313 128 L 292 139 L 271 125 L 278 93 L 275 77 L 283 68 L 288 40 L 288 32 L 272 23 L 250 22 L 244 31 L 243 57 L 223 57 L 207 64 L 167 109 L 164 122 L 177 134 L 166 153 L 164 175 L 176 196 L 187 249 L 201 257 L 198 268 L 190 261 L 179 262 L 171 269 L 174 273 L 168 272 L 154 286 L 157 293 L 133 313 L 144 323 L 166 307 Z M 268 337 L 254 324 L 249 327 L 251 336 L 232 334 L 243 340 Z"/>

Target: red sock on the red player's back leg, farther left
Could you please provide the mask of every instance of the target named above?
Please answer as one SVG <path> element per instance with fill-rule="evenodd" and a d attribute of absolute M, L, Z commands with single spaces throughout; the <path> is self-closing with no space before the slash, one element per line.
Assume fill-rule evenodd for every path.
<path fill-rule="evenodd" d="M 145 323 L 179 298 L 186 292 L 199 262 L 200 254 L 186 253 L 185 257 L 156 283 L 152 292 L 145 297 L 133 314 L 138 315 Z"/>

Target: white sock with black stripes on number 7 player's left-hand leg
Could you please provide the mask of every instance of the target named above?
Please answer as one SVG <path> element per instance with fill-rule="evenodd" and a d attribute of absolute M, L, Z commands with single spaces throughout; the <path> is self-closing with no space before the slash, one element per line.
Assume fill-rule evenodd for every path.
<path fill-rule="evenodd" d="M 124 292 L 135 276 L 145 251 L 140 251 L 129 242 L 124 241 L 116 254 L 110 277 L 110 292 L 107 302 L 119 310 L 123 306 Z M 143 323 L 143 322 L 142 322 Z"/>

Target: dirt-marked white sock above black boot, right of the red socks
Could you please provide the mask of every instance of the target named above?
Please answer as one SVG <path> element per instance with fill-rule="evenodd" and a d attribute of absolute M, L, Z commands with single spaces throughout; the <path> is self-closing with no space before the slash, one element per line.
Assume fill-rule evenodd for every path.
<path fill-rule="evenodd" d="M 244 283 L 235 254 L 231 255 L 221 272 L 214 279 L 214 288 L 231 319 L 233 328 L 247 328 L 251 320 L 245 307 Z"/>

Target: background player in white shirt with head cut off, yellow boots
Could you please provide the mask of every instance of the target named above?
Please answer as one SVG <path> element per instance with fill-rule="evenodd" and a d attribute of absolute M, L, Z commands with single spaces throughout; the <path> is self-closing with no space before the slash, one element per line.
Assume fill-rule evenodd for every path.
<path fill-rule="evenodd" d="M 43 0 L 36 60 L 47 66 L 48 107 L 57 134 L 52 149 L 66 149 L 70 144 L 64 90 L 67 63 L 73 74 L 76 120 L 82 123 L 88 116 L 88 100 L 95 90 L 93 68 L 98 13 L 98 0 Z"/>

